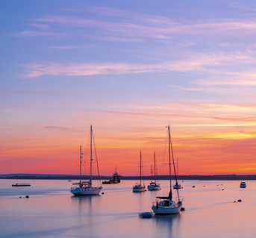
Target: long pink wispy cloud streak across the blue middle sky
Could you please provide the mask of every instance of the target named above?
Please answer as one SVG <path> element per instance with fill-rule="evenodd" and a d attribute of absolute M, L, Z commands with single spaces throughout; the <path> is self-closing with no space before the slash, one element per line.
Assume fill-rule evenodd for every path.
<path fill-rule="evenodd" d="M 201 54 L 186 60 L 176 60 L 157 64 L 136 63 L 79 63 L 63 65 L 60 63 L 27 64 L 25 77 L 34 78 L 41 75 L 101 75 L 101 74 L 128 74 L 143 72 L 212 72 L 211 66 L 223 66 L 243 63 L 252 60 L 251 54 Z"/>

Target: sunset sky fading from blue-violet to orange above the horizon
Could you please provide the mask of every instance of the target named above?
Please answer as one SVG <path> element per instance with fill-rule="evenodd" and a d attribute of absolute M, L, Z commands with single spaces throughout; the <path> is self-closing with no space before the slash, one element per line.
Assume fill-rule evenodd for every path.
<path fill-rule="evenodd" d="M 2 0 L 0 174 L 256 172 L 256 2 Z M 93 160 L 95 163 L 96 160 Z"/>

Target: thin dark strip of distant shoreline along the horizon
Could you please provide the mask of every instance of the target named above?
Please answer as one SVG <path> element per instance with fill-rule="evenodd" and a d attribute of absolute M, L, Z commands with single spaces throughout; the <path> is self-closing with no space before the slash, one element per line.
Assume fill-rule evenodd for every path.
<path fill-rule="evenodd" d="M 111 176 L 93 176 L 93 179 L 110 180 Z M 82 175 L 82 180 L 88 180 L 90 177 L 87 175 Z M 122 180 L 138 180 L 140 176 L 122 176 Z M 0 175 L 0 179 L 35 179 L 35 180 L 79 180 L 79 175 L 44 175 L 44 174 L 10 174 L 10 175 Z M 143 176 L 143 180 L 151 180 L 151 176 Z M 169 180 L 169 175 L 158 175 L 158 180 Z M 175 176 L 172 176 L 175 179 Z M 179 181 L 183 180 L 201 180 L 201 181 L 211 181 L 211 180 L 256 180 L 256 175 L 179 175 Z"/>

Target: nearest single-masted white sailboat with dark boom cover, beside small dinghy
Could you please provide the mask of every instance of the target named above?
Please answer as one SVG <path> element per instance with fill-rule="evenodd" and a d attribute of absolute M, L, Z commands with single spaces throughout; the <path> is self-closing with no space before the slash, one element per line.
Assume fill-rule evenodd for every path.
<path fill-rule="evenodd" d="M 171 150 L 172 150 L 172 141 L 169 133 L 169 125 L 168 125 L 168 137 L 169 137 L 169 195 L 168 197 L 157 197 L 160 199 L 156 203 L 153 203 L 152 210 L 155 214 L 174 214 L 179 213 L 181 211 L 183 197 L 178 194 L 178 201 L 172 201 L 172 180 L 171 180 L 171 164 L 173 164 L 174 172 L 175 172 L 175 164 L 173 159 L 172 152 L 172 163 L 171 163 Z M 176 172 L 175 172 L 175 181 L 177 182 Z M 178 193 L 178 189 L 177 189 Z"/>

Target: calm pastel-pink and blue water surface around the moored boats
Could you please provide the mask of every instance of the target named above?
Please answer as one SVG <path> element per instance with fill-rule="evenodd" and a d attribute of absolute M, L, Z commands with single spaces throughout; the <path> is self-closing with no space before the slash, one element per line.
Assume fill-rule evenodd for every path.
<path fill-rule="evenodd" d="M 17 182 L 31 187 L 11 187 Z M 246 189 L 240 181 L 184 181 L 186 210 L 152 219 L 138 213 L 168 194 L 168 181 L 143 193 L 133 193 L 134 184 L 103 184 L 104 195 L 75 197 L 68 181 L 0 180 L 0 237 L 256 237 L 256 181 Z"/>

